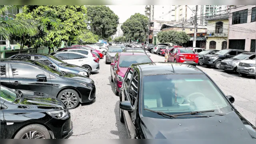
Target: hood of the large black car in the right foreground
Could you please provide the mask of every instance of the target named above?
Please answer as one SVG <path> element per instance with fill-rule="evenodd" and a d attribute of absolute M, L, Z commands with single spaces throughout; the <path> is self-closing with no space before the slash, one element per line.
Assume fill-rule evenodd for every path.
<path fill-rule="evenodd" d="M 224 116 L 210 118 L 159 119 L 142 117 L 142 128 L 147 138 L 150 139 L 255 138 L 255 127 L 239 115 L 239 113 L 236 114 L 232 111 Z"/>

